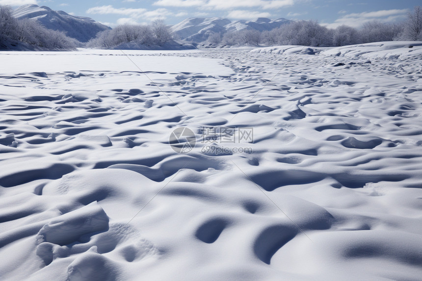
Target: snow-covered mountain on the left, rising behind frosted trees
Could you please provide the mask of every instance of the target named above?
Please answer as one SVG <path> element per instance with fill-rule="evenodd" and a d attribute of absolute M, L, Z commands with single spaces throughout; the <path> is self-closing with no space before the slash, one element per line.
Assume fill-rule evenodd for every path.
<path fill-rule="evenodd" d="M 15 9 L 13 16 L 18 19 L 37 20 L 43 26 L 63 31 L 67 36 L 80 42 L 87 42 L 98 32 L 110 28 L 88 17 L 72 16 L 63 11 L 53 11 L 49 7 L 34 4 Z"/>

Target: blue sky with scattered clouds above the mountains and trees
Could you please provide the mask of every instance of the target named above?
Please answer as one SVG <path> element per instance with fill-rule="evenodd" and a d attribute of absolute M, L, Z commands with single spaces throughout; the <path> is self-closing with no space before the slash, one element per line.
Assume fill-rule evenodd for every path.
<path fill-rule="evenodd" d="M 414 6 L 421 5 L 421 0 L 0 0 L 0 4 L 14 7 L 29 3 L 91 17 L 112 27 L 150 23 L 158 16 L 170 25 L 188 17 L 266 17 L 317 20 L 329 27 L 359 27 L 372 20 L 401 21 Z"/>

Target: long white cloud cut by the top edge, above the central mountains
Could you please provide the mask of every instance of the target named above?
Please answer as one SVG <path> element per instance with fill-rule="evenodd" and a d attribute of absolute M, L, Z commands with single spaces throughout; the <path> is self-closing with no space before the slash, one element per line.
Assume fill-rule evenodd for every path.
<path fill-rule="evenodd" d="M 294 0 L 158 0 L 154 5 L 169 7 L 203 7 L 225 10 L 235 8 L 261 8 L 264 10 L 291 6 Z"/>

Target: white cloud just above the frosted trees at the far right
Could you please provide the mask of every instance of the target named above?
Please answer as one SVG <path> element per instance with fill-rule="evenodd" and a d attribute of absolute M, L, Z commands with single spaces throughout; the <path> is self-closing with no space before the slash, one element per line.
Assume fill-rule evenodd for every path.
<path fill-rule="evenodd" d="M 392 9 L 392 10 L 380 10 L 373 12 L 363 12 L 363 13 L 352 13 L 344 15 L 332 24 L 321 24 L 329 28 L 336 28 L 338 26 L 346 25 L 352 27 L 360 27 L 365 23 L 371 21 L 380 21 L 383 23 L 394 22 L 399 19 L 404 19 L 406 17 L 408 10 L 407 9 Z"/>

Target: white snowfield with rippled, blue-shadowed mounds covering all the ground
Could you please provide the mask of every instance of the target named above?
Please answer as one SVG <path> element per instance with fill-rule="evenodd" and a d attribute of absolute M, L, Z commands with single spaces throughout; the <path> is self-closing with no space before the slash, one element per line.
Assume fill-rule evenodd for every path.
<path fill-rule="evenodd" d="M 419 280 L 412 46 L 0 52 L 1 280 Z"/>

